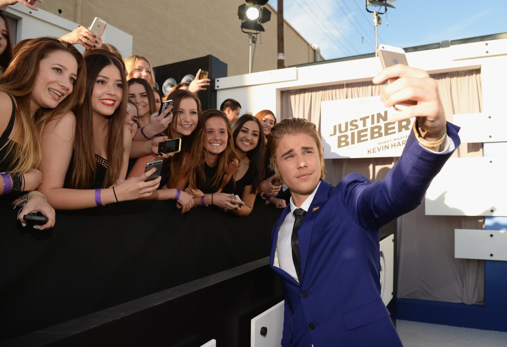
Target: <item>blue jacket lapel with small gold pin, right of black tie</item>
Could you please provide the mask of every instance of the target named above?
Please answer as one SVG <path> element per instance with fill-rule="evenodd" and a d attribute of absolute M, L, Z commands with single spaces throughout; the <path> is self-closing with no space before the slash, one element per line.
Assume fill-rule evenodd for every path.
<path fill-rule="evenodd" d="M 310 249 L 310 240 L 312 236 L 313 222 L 317 215 L 320 213 L 322 204 L 328 200 L 332 186 L 324 180 L 320 180 L 320 185 L 313 197 L 305 219 L 299 229 L 299 254 L 301 259 L 301 278 L 305 273 L 306 260 L 308 259 L 308 250 Z"/>

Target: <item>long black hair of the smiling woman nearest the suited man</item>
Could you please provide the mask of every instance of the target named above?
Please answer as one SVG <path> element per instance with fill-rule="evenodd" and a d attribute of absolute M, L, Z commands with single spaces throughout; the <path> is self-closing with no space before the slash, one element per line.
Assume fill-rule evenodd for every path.
<path fill-rule="evenodd" d="M 260 129 L 257 146 L 246 153 L 246 156 L 250 160 L 249 169 L 252 170 L 253 177 L 250 192 L 252 194 L 257 194 L 257 192 L 261 189 L 261 182 L 266 174 L 266 146 L 264 145 L 264 131 L 262 129 L 261 122 L 251 114 L 243 114 L 236 123 L 234 123 L 232 138 L 234 140 L 234 146 L 236 146 L 236 137 L 238 136 L 241 127 L 248 121 L 256 122 Z"/>

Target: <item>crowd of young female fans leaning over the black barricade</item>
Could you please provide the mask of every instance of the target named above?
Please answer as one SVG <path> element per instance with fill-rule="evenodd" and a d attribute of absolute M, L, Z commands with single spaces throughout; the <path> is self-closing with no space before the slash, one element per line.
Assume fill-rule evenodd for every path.
<path fill-rule="evenodd" d="M 14 3 L 0 1 L 0 10 Z M 161 95 L 146 57 L 123 58 L 83 26 L 13 45 L 0 12 L 0 32 L 0 191 L 3 203 L 19 207 L 22 226 L 38 212 L 47 221 L 33 227 L 43 230 L 54 226 L 55 209 L 139 199 L 172 199 L 182 213 L 205 206 L 239 216 L 250 214 L 258 195 L 286 206 L 265 150 L 272 111 L 239 117 L 233 99 L 202 110 L 197 92 L 210 80 L 201 70 Z M 180 151 L 159 150 L 175 138 Z M 160 175 L 149 179 L 157 169 L 147 164 L 159 160 Z"/>

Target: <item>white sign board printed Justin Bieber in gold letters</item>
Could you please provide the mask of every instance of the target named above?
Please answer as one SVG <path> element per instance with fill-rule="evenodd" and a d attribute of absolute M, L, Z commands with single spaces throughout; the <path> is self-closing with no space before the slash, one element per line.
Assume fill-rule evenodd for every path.
<path fill-rule="evenodd" d="M 378 96 L 321 102 L 325 159 L 400 157 L 413 119 L 390 122 L 394 108 Z"/>

